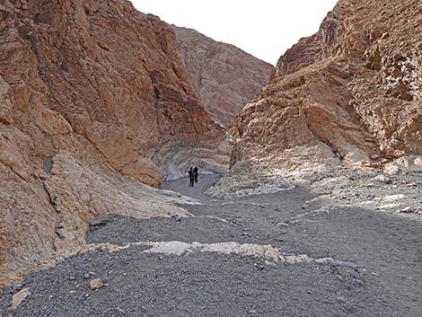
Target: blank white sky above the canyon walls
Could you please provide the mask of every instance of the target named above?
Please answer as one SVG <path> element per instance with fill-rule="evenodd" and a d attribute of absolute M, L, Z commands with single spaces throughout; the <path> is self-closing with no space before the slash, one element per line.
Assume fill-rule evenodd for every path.
<path fill-rule="evenodd" d="M 131 0 L 143 13 L 233 44 L 271 64 L 318 31 L 337 0 Z"/>

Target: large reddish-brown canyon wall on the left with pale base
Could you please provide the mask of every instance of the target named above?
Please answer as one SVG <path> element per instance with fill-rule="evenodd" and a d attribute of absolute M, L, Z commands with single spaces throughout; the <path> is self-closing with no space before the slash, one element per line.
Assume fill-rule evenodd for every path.
<path fill-rule="evenodd" d="M 224 164 L 224 137 L 158 18 L 124 0 L 2 1 L 0 288 L 84 243 L 92 216 L 182 213 L 134 179 L 157 186 L 180 148 Z"/>

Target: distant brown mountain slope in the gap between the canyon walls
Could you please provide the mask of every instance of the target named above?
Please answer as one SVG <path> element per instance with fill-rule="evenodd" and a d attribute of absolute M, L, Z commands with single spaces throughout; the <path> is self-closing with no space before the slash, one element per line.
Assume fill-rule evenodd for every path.
<path fill-rule="evenodd" d="M 174 30 L 194 92 L 211 117 L 228 126 L 268 84 L 274 66 L 198 31 L 180 27 Z"/>

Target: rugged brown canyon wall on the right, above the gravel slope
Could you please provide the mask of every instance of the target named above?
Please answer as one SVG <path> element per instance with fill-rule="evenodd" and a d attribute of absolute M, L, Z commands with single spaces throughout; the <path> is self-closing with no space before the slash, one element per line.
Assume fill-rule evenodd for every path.
<path fill-rule="evenodd" d="M 417 0 L 340 0 L 242 110 L 232 164 L 291 170 L 422 154 L 421 10 Z"/>

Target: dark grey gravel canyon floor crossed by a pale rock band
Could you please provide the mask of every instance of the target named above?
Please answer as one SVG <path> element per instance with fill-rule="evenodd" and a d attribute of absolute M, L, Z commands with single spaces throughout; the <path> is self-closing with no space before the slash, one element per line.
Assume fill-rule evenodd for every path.
<path fill-rule="evenodd" d="M 92 251 L 6 288 L 4 316 L 420 316 L 417 221 L 319 212 L 299 187 L 209 198 L 215 181 L 163 185 L 199 199 L 187 217 L 92 221 Z M 104 286 L 92 291 L 97 277 Z M 10 309 L 22 289 L 30 295 Z"/>

